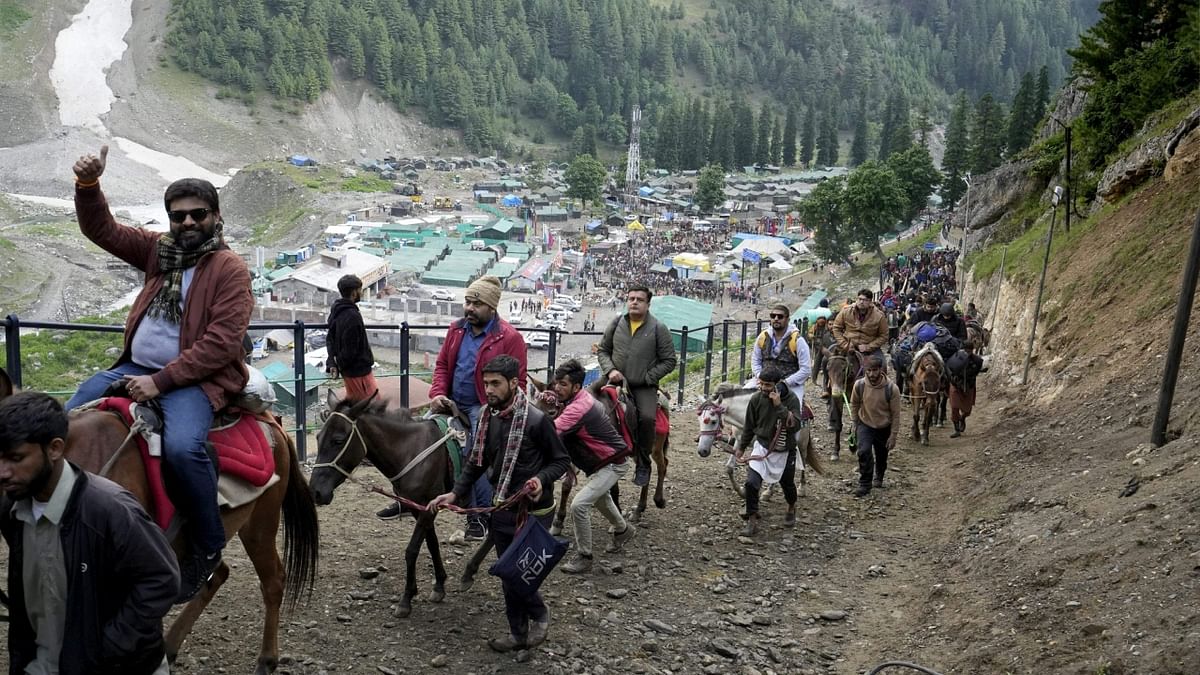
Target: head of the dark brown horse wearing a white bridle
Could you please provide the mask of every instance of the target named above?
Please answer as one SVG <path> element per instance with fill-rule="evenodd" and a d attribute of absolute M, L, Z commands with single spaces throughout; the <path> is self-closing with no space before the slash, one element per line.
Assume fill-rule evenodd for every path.
<path fill-rule="evenodd" d="M 317 464 L 312 467 L 308 486 L 312 498 L 320 506 L 334 501 L 337 489 L 367 455 L 367 444 L 359 430 L 359 419 L 370 412 L 382 413 L 385 404 L 374 396 L 364 401 L 326 400 L 329 416 L 317 432 Z"/>

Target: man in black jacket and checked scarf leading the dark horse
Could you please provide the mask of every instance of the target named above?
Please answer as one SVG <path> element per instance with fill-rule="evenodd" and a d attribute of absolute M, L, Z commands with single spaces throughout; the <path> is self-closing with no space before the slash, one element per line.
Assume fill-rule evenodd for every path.
<path fill-rule="evenodd" d="M 570 468 L 571 460 L 563 441 L 554 431 L 554 423 L 533 406 L 520 386 L 521 364 L 500 354 L 484 365 L 484 393 L 487 405 L 479 413 L 475 442 L 454 490 L 430 501 L 428 508 L 438 509 L 466 500 L 481 476 L 492 484 L 496 503 L 500 503 L 522 486 L 530 490 L 529 518 L 536 518 L 547 528 L 554 510 L 554 480 Z M 516 507 L 494 510 L 488 530 L 500 557 L 517 528 Z M 527 595 L 504 587 L 504 611 L 509 634 L 493 638 L 488 646 L 498 652 L 533 649 L 546 640 L 550 610 L 540 593 Z"/>

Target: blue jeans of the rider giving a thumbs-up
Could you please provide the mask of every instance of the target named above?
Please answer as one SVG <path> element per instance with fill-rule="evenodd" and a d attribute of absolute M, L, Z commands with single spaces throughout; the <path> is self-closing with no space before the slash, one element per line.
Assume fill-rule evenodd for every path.
<path fill-rule="evenodd" d="M 84 382 L 67 401 L 67 410 L 94 401 L 118 380 L 132 375 L 154 375 L 157 370 L 136 363 L 121 363 Z M 226 544 L 224 525 L 217 507 L 217 477 L 204 442 L 212 425 L 212 405 L 198 384 L 158 395 L 162 406 L 162 459 L 176 478 L 172 501 L 187 519 L 199 552 L 220 551 Z"/>

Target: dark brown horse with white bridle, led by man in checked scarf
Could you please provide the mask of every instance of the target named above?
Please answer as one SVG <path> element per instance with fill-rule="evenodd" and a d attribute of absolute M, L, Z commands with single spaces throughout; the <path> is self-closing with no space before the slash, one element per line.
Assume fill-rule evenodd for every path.
<path fill-rule="evenodd" d="M 445 444 L 454 432 L 443 434 L 437 420 L 416 419 L 406 408 L 388 411 L 386 404 L 373 396 L 362 401 L 337 401 L 330 395 L 326 402 L 330 413 L 317 432 L 317 464 L 310 479 L 317 504 L 332 502 L 334 490 L 347 478 L 353 479 L 354 470 L 364 459 L 388 477 L 396 495 L 418 504 L 428 503 L 450 488 L 451 461 Z M 433 558 L 430 602 L 445 599 L 446 580 L 436 514 L 409 507 L 406 510 L 416 519 L 416 526 L 404 549 L 404 595 L 396 609 L 401 619 L 413 613 L 421 543 Z"/>

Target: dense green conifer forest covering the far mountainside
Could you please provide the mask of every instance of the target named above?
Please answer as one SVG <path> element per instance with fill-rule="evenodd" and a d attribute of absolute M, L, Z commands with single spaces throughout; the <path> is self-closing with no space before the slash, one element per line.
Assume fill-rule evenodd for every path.
<path fill-rule="evenodd" d="M 906 0 L 880 16 L 826 0 L 686 10 L 642 0 L 178 0 L 167 43 L 180 67 L 248 95 L 314 101 L 337 67 L 400 109 L 463 130 L 475 151 L 502 148 L 512 132 L 620 144 L 635 103 L 670 107 L 690 90 L 710 115 L 727 103 L 744 119 L 731 101 L 766 95 L 778 110 L 814 110 L 812 150 L 828 160 L 829 139 L 862 108 L 878 119 L 893 91 L 937 118 L 948 91 L 1007 101 L 1019 73 L 1042 64 L 1056 84 L 1094 2 Z M 659 129 L 653 113 L 648 135 L 680 133 Z M 762 136 L 763 149 L 734 143 L 733 161 L 784 161 L 786 130 L 756 130 L 754 143 Z"/>

